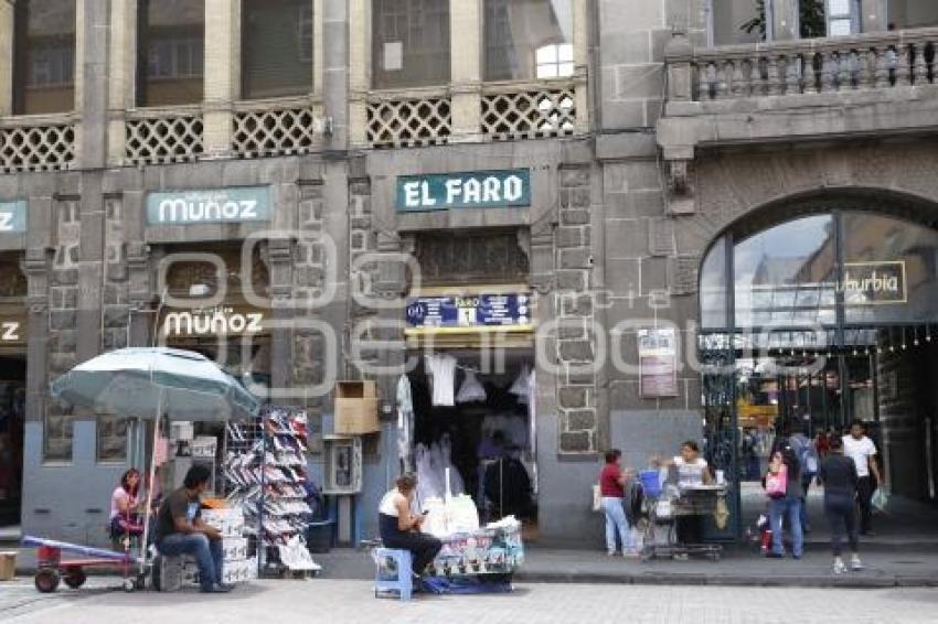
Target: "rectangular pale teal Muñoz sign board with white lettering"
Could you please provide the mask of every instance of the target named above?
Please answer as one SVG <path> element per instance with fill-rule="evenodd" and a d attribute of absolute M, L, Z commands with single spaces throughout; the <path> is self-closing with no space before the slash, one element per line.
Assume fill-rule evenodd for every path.
<path fill-rule="evenodd" d="M 269 219 L 269 186 L 167 191 L 147 195 L 149 225 L 248 223 Z"/>

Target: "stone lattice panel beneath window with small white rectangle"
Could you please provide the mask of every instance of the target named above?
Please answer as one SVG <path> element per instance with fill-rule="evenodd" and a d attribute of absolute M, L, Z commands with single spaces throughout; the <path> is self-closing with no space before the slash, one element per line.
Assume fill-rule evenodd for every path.
<path fill-rule="evenodd" d="M 367 138 L 373 147 L 446 143 L 452 128 L 449 99 L 406 99 L 369 105 Z"/>

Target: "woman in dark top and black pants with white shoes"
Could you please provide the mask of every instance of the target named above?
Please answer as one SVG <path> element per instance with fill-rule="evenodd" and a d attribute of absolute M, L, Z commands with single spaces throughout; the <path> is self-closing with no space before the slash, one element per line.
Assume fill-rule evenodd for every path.
<path fill-rule="evenodd" d="M 853 460 L 844 456 L 843 442 L 840 438 L 832 438 L 830 452 L 821 464 L 818 474 L 824 485 L 824 513 L 831 525 L 831 547 L 834 552 L 834 574 L 846 572 L 846 566 L 841 558 L 841 542 L 843 541 L 843 529 L 850 540 L 852 557 L 850 567 L 854 571 L 863 569 L 863 563 L 857 555 L 860 538 L 856 535 L 856 514 L 854 505 L 856 501 L 856 465 Z"/>

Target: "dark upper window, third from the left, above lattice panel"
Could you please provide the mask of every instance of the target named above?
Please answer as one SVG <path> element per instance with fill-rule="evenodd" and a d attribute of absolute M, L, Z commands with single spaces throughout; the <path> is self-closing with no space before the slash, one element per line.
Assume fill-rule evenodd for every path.
<path fill-rule="evenodd" d="M 312 90 L 312 0 L 244 0 L 242 96 Z"/>

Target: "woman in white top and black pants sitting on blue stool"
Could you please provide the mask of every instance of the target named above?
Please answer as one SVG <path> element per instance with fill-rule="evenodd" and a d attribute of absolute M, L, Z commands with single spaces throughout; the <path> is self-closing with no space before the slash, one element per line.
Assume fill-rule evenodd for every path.
<path fill-rule="evenodd" d="M 381 540 L 386 548 L 409 550 L 414 556 L 414 575 L 419 577 L 443 548 L 443 542 L 430 535 L 422 534 L 424 516 L 411 510 L 417 477 L 413 474 L 401 475 L 395 485 L 394 489 L 384 495 L 379 506 Z"/>

